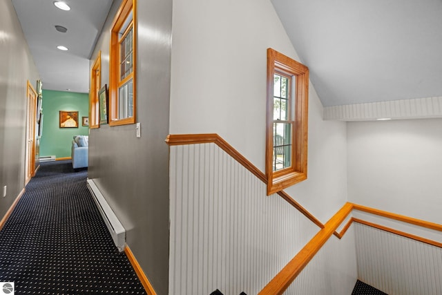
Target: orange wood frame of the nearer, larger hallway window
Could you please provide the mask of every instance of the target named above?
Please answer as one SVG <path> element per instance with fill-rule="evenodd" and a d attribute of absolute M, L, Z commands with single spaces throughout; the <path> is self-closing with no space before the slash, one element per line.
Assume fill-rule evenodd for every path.
<path fill-rule="evenodd" d="M 137 13 L 136 13 L 136 1 L 135 0 L 123 0 L 117 15 L 113 21 L 111 29 L 111 50 L 110 50 L 110 60 L 109 60 L 109 125 L 118 126 L 126 124 L 135 124 L 136 113 L 137 113 L 137 95 L 136 95 L 136 64 L 137 64 L 137 54 L 136 54 L 136 39 L 137 39 Z M 132 13 L 132 21 L 129 23 L 128 27 L 124 32 L 124 36 L 119 37 L 119 32 L 126 23 L 126 19 Z M 126 76 L 124 79 L 120 80 L 120 40 L 126 36 L 129 28 L 133 28 L 133 71 L 131 74 Z M 123 119 L 118 119 L 118 96 L 119 87 L 124 85 L 130 79 L 133 81 L 133 110 L 132 117 L 126 117 Z"/>

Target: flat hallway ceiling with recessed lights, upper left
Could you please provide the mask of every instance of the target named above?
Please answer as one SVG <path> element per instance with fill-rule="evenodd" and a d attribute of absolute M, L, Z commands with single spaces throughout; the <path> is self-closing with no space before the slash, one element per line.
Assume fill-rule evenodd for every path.
<path fill-rule="evenodd" d="M 12 0 L 46 90 L 89 92 L 89 58 L 113 0 Z M 68 29 L 58 32 L 55 26 Z M 63 45 L 68 51 L 61 51 Z"/>

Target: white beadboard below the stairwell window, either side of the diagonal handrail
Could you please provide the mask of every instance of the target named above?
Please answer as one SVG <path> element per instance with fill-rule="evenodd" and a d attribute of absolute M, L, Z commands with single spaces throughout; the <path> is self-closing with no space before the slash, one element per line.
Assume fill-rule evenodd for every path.
<path fill-rule="evenodd" d="M 266 196 L 266 184 L 216 144 L 170 146 L 170 171 L 169 294 L 210 294 L 215 289 L 225 295 L 258 294 L 319 231 L 278 195 Z M 315 274 L 307 270 L 295 282 L 315 288 L 320 284 L 325 291 L 330 285 L 347 285 L 350 294 L 356 283 L 352 234 L 332 240 L 308 266 Z M 328 263 L 336 251 L 343 251 L 346 263 Z M 331 282 L 336 267 L 347 267 L 343 273 L 354 276 Z"/>

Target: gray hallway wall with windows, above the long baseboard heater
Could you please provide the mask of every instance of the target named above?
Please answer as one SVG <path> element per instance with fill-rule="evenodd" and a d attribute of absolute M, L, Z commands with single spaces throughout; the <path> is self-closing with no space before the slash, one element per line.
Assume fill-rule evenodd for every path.
<path fill-rule="evenodd" d="M 102 85 L 109 84 L 110 29 L 121 1 L 114 1 L 91 57 L 102 51 Z M 126 228 L 133 251 L 157 294 L 169 277 L 169 92 L 172 1 L 137 1 L 137 122 L 90 130 L 88 177 Z"/>

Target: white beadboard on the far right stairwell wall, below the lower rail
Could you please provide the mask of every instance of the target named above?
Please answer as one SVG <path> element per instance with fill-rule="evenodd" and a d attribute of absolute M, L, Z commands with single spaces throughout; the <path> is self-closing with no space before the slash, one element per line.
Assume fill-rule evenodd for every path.
<path fill-rule="evenodd" d="M 441 295 L 442 249 L 354 222 L 358 278 L 389 295 Z"/>

